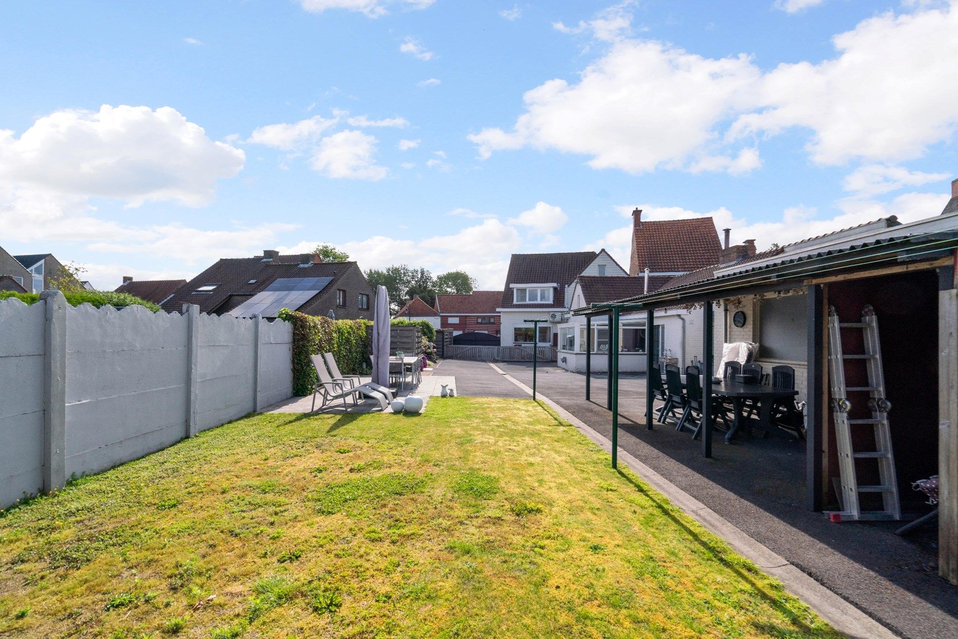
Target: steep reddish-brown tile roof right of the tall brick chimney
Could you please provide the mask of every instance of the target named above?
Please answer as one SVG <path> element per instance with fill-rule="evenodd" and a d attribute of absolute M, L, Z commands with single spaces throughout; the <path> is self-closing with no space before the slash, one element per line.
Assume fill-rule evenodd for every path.
<path fill-rule="evenodd" d="M 711 217 L 636 221 L 629 275 L 692 271 L 719 262 L 721 242 Z"/>

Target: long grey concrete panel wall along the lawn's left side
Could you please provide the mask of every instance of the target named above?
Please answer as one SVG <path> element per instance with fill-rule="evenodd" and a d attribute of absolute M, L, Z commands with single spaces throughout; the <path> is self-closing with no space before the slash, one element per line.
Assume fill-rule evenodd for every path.
<path fill-rule="evenodd" d="M 65 443 L 52 454 L 69 477 L 137 459 L 292 395 L 285 322 L 197 314 L 192 323 L 187 314 L 89 305 L 57 311 L 66 370 L 55 381 L 62 393 L 45 393 L 47 360 L 56 355 L 46 352 L 48 304 L 0 302 L 0 508 L 57 486 L 56 478 L 44 479 L 45 429 L 52 427 L 45 416 L 57 412 L 46 405 L 50 397 L 65 395 L 58 407 Z"/>

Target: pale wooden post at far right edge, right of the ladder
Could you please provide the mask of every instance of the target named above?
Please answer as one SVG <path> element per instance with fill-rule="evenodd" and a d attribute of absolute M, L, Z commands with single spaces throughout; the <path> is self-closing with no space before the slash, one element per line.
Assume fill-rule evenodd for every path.
<path fill-rule="evenodd" d="M 958 289 L 938 292 L 938 572 L 958 584 Z"/>

